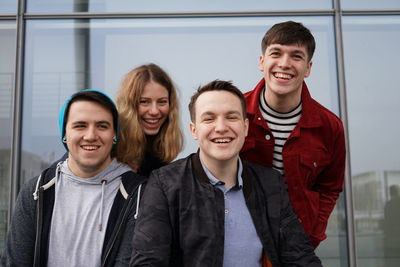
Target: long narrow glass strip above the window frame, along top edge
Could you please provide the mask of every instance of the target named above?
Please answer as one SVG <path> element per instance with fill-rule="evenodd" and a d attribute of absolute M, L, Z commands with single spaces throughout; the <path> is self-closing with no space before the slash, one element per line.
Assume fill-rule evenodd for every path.
<path fill-rule="evenodd" d="M 27 0 L 28 12 L 240 12 L 330 8 L 332 0 Z"/>

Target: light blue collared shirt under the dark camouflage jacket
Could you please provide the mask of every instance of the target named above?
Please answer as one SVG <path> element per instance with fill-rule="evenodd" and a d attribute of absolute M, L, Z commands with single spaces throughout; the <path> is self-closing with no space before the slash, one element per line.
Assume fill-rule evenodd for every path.
<path fill-rule="evenodd" d="M 237 183 L 231 188 L 226 188 L 224 182 L 212 175 L 203 161 L 201 161 L 201 165 L 210 183 L 224 194 L 225 242 L 223 266 L 261 266 L 263 248 L 243 195 L 242 161 L 240 158 L 238 159 Z"/>

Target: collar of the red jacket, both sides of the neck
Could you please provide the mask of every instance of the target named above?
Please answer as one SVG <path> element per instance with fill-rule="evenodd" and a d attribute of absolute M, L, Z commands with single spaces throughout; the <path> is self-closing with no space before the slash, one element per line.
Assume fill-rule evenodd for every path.
<path fill-rule="evenodd" d="M 260 94 L 265 87 L 264 78 L 257 84 L 253 91 L 245 94 L 247 102 L 247 114 L 249 116 L 262 117 L 259 109 Z M 321 117 L 319 116 L 320 104 L 318 104 L 310 95 L 306 83 L 303 81 L 301 89 L 302 112 L 299 125 L 304 128 L 314 128 L 322 125 Z M 250 118 L 251 119 L 251 118 Z M 256 118 L 255 118 L 256 119 Z"/>

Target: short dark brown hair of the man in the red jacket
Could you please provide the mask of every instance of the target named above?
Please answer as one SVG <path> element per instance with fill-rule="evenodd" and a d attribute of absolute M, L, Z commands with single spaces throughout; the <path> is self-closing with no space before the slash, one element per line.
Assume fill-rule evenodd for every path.
<path fill-rule="evenodd" d="M 303 24 L 294 21 L 286 21 L 275 24 L 264 35 L 261 42 L 261 52 L 264 55 L 265 50 L 271 44 L 304 45 L 308 52 L 308 61 L 314 55 L 315 39 L 310 30 Z"/>

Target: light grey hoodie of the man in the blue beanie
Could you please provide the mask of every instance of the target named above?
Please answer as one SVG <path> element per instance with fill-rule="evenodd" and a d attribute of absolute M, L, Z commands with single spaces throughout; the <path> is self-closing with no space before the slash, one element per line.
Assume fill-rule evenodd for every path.
<path fill-rule="evenodd" d="M 60 163 L 49 236 L 48 266 L 100 266 L 105 229 L 121 174 L 130 168 L 115 159 L 91 178 L 75 176 Z"/>

